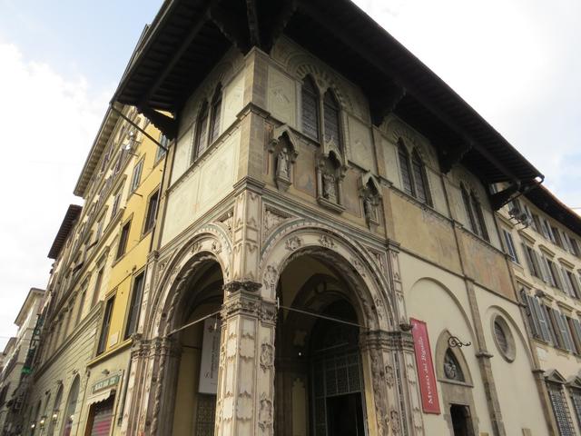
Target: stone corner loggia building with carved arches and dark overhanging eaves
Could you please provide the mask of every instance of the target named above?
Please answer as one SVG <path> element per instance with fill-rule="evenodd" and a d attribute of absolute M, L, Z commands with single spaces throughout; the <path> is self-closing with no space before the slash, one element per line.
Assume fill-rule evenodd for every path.
<path fill-rule="evenodd" d="M 568 434 L 497 214 L 543 176 L 356 5 L 166 1 L 112 104 L 170 144 L 109 434 Z"/>

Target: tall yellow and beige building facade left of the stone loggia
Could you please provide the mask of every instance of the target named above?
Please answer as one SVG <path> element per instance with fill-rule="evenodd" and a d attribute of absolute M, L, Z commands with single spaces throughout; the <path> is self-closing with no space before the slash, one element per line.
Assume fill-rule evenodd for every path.
<path fill-rule="evenodd" d="M 156 143 L 166 142 L 143 116 L 119 110 L 105 115 L 74 187 L 84 206 L 69 208 L 49 254 L 44 345 L 24 434 L 119 429 L 165 162 Z"/>

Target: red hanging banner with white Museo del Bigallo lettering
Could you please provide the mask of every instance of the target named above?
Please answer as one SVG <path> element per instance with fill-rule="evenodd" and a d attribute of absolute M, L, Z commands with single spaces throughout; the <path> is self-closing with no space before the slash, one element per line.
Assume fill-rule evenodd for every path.
<path fill-rule="evenodd" d="M 411 321 L 411 334 L 414 337 L 422 409 L 426 413 L 439 414 L 438 381 L 434 374 L 434 362 L 432 362 L 432 352 L 429 348 L 428 328 L 426 322 L 413 318 L 409 321 Z"/>

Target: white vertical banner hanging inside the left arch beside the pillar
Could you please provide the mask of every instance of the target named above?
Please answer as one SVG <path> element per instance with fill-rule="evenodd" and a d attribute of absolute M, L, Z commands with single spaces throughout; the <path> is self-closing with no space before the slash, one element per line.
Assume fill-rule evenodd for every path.
<path fill-rule="evenodd" d="M 200 362 L 200 393 L 218 392 L 218 366 L 220 364 L 220 322 L 208 318 L 203 322 L 202 361 Z"/>

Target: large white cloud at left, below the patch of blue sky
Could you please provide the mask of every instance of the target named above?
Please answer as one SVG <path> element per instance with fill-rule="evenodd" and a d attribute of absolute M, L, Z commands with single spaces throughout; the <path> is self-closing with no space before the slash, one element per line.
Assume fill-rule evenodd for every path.
<path fill-rule="evenodd" d="M 66 78 L 26 60 L 0 41 L 0 124 L 4 168 L 0 277 L 0 345 L 15 334 L 16 313 L 32 286 L 43 288 L 46 254 L 72 194 L 111 90 L 95 92 L 82 77 Z"/>

